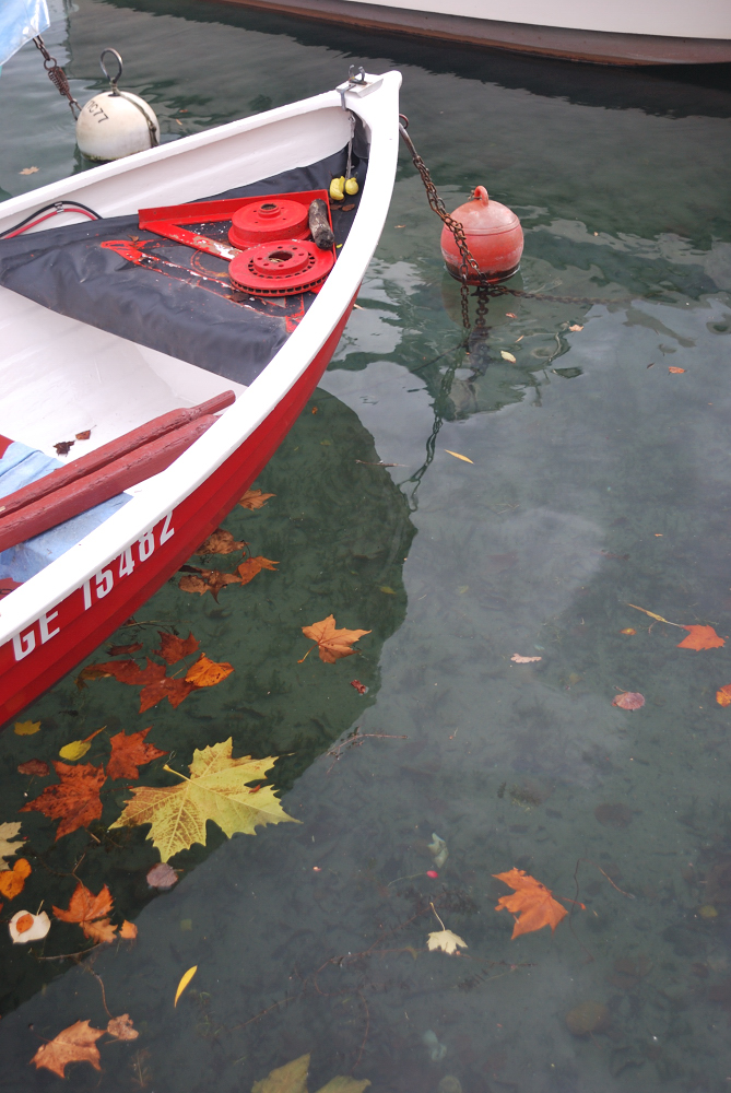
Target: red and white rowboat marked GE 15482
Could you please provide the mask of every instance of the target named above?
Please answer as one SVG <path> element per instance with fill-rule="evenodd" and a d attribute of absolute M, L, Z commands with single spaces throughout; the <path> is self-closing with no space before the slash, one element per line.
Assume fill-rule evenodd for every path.
<path fill-rule="evenodd" d="M 17 587 L 13 587 L 13 580 L 5 581 L 5 588 L 12 590 L 0 599 L 0 724 L 17 715 L 72 669 L 160 588 L 217 527 L 291 428 L 338 344 L 384 226 L 397 165 L 400 84 L 398 72 L 366 74 L 362 83 L 350 81 L 342 89 L 141 152 L 0 204 L 0 234 L 7 235 L 25 220 L 34 225 L 32 234 L 11 239 L 13 246 L 20 245 L 20 239 L 25 240 L 24 246 L 28 242 L 33 245 L 33 252 L 23 258 L 26 266 L 21 263 L 19 267 L 21 281 L 13 280 L 16 274 L 5 277 L 3 273 L 13 261 L 17 266 L 17 259 L 3 266 L 5 245 L 0 242 L 3 346 L 0 434 L 26 445 L 42 460 L 44 456 L 56 456 L 55 447 L 59 442 L 69 440 L 75 434 L 83 436 L 89 428 L 91 437 L 76 442 L 70 459 L 79 451 L 89 463 L 94 459 L 94 450 L 110 445 L 105 449 L 107 455 L 102 453 L 98 457 L 97 461 L 104 465 L 101 470 L 85 478 L 72 478 L 70 484 L 46 494 L 35 507 L 32 502 L 21 504 L 14 513 L 5 512 L 3 517 L 0 496 L 0 536 L 2 528 L 7 529 L 15 517 L 20 520 L 24 512 L 26 517 L 31 513 L 35 519 L 34 512 L 37 515 L 47 506 L 52 507 L 57 503 L 55 493 L 67 501 L 73 498 L 74 491 L 82 490 L 79 483 L 89 485 L 94 474 L 96 478 L 85 504 L 96 504 L 99 500 L 98 489 L 103 486 L 98 486 L 98 481 L 105 475 L 117 474 L 114 478 L 117 492 L 127 489 L 134 475 L 128 472 L 125 478 L 126 468 L 134 458 L 142 458 L 141 466 L 148 468 L 145 473 L 152 474 L 139 482 L 138 472 L 138 484 L 128 489 L 131 496 L 123 507 L 111 512 L 79 541 L 70 542 L 62 553 L 28 579 Z M 108 218 L 137 218 L 141 208 L 157 211 L 163 205 L 220 197 L 236 187 L 248 187 L 249 192 L 256 193 L 262 179 L 269 183 L 259 192 L 271 193 L 278 176 L 296 177 L 300 168 L 310 180 L 319 171 L 319 185 L 322 186 L 322 171 L 330 167 L 332 173 L 331 165 L 337 156 L 344 154 L 353 137 L 354 121 L 362 158 L 367 157 L 367 181 L 354 202 L 356 211 L 351 216 L 345 242 L 337 251 L 332 271 L 317 294 L 311 295 L 294 317 L 290 312 L 286 320 L 272 319 L 271 315 L 262 320 L 272 329 L 272 324 L 280 322 L 282 331 L 286 321 L 288 336 L 280 339 L 283 343 L 268 363 L 263 362 L 250 383 L 240 381 L 236 317 L 228 330 L 229 341 L 224 353 L 224 360 L 231 359 L 231 367 L 225 363 L 222 366 L 219 353 L 215 364 L 211 364 L 216 368 L 213 372 L 204 360 L 204 338 L 200 343 L 203 344 L 202 356 L 200 344 L 190 353 L 181 350 L 177 355 L 151 344 L 157 326 L 164 327 L 168 321 L 164 316 L 157 322 L 153 314 L 150 325 L 149 316 L 140 313 L 142 318 L 138 322 L 130 315 L 125 328 L 127 337 L 123 337 L 119 332 L 119 315 L 113 320 L 105 307 L 98 308 L 104 314 L 89 312 L 89 308 L 98 307 L 93 293 L 103 281 L 102 274 L 96 280 L 72 277 L 66 284 L 58 281 L 61 274 L 55 274 L 55 291 L 60 292 L 61 303 L 56 297 L 46 298 L 43 286 L 37 291 L 33 287 L 43 282 L 33 262 L 45 260 L 45 272 L 58 270 L 61 251 L 54 251 L 51 240 L 66 238 L 62 233 L 67 225 L 71 230 L 72 225 L 91 224 L 92 235 L 98 235 L 108 224 Z M 367 150 L 364 150 L 364 142 Z M 361 178 L 364 175 L 365 169 Z M 292 188 L 282 187 L 280 192 Z M 294 187 L 299 190 L 314 188 L 317 186 Z M 79 207 L 78 212 L 71 211 L 73 205 Z M 51 208 L 50 219 L 42 220 L 45 213 L 33 215 L 45 207 Z M 57 208 L 62 210 L 58 214 Z M 94 210 L 103 220 L 85 221 L 84 208 Z M 349 214 L 341 215 L 346 218 Z M 338 216 L 332 221 L 338 238 Z M 123 222 L 115 222 L 119 224 Z M 60 234 L 54 236 L 59 225 Z M 123 234 L 122 228 L 118 227 L 117 234 Z M 150 236 L 149 231 L 140 234 Z M 125 244 L 126 239 L 131 246 Z M 173 258 L 169 246 L 167 250 L 158 249 L 151 258 L 142 250 L 145 240 L 130 236 L 129 232 L 121 240 L 113 242 L 111 260 L 117 263 L 114 270 L 121 271 L 122 280 L 131 275 L 130 270 L 137 269 L 133 265 L 135 247 L 142 252 L 142 259 L 137 255 L 139 275 L 150 277 L 151 289 L 165 281 L 163 287 L 167 291 L 169 285 L 165 279 L 175 279 L 176 270 L 181 269 L 179 248 Z M 122 244 L 130 249 L 129 260 Z M 94 251 L 94 261 L 106 261 L 109 257 L 108 249 L 106 257 L 102 255 L 101 246 L 98 244 Z M 173 244 L 174 248 L 176 246 Z M 17 255 L 17 251 L 11 252 L 11 258 L 12 254 Z M 56 257 L 44 259 L 44 254 Z M 217 261 L 215 258 L 208 260 Z M 145 265 L 149 269 L 144 269 Z M 204 301 L 201 320 L 204 321 L 205 307 L 213 296 L 201 290 L 209 287 L 210 282 L 219 293 L 215 307 L 224 306 L 221 298 L 225 275 L 211 272 L 210 266 L 197 266 L 190 256 L 188 265 L 196 269 L 188 270 L 193 274 L 193 284 L 189 281 L 185 292 L 192 298 L 194 289 Z M 22 282 L 23 269 L 31 271 L 31 287 L 27 289 Z M 139 283 L 144 291 L 146 282 Z M 67 290 L 69 298 L 72 297 L 70 304 L 63 295 Z M 78 294 L 83 295 L 86 290 L 92 297 L 79 303 Z M 153 296 L 150 298 L 152 301 Z M 247 321 L 256 325 L 255 310 L 252 302 L 236 314 L 244 316 L 246 313 Z M 81 313 L 85 319 L 79 317 Z M 120 314 L 123 317 L 123 307 Z M 182 318 L 187 321 L 187 316 Z M 211 322 L 212 338 L 217 336 L 216 324 L 217 319 Z M 241 353 L 250 329 L 241 328 Z M 185 345 L 187 328 L 184 326 L 180 334 L 174 319 L 170 330 Z M 181 426 L 177 421 L 177 428 L 173 428 L 168 420 L 167 425 L 155 426 L 156 440 L 145 434 L 145 428 L 149 432 L 145 423 L 179 408 L 214 400 L 209 409 L 215 413 L 232 400 L 223 395 L 226 391 L 234 392 L 235 401 L 217 418 L 207 418 L 202 425 L 200 418 L 199 424 L 193 422 L 192 425 Z M 201 432 L 209 424 L 210 427 Z M 192 433 L 184 435 L 186 428 Z M 130 443 L 120 437 L 135 430 L 141 430 L 141 434 L 133 434 L 130 454 L 127 450 Z M 194 438 L 197 433 L 201 435 Z M 139 435 L 148 443 L 143 448 L 138 445 L 135 455 L 134 436 Z M 182 439 L 178 443 L 175 437 Z M 165 470 L 154 473 L 160 468 L 155 459 L 161 458 L 160 451 L 168 440 L 172 445 L 178 443 L 177 448 L 170 447 L 173 454 L 181 447 L 185 450 Z M 110 462 L 115 455 L 117 458 Z M 169 458 L 163 459 L 165 461 L 169 462 Z M 67 460 L 67 467 L 72 466 Z M 68 470 L 63 473 L 70 477 Z M 4 490 L 5 494 L 8 492 Z M 101 496 L 108 496 L 108 490 Z M 64 504 L 58 508 L 62 518 L 68 512 Z M 33 519 L 27 524 L 32 529 L 36 527 Z M 7 531 L 4 541 L 9 541 Z M 42 541 L 43 536 L 34 540 L 36 543 Z M 0 539 L 0 545 L 1 542 Z M 11 551 L 4 550 L 0 553 L 0 562 L 9 557 L 12 561 L 12 556 Z M 0 584 L 2 576 L 0 569 Z"/>

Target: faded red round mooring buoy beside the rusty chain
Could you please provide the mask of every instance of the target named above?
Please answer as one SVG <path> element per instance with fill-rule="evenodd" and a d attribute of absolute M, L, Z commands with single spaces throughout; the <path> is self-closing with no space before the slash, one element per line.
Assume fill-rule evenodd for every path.
<path fill-rule="evenodd" d="M 484 186 L 477 186 L 471 201 L 451 214 L 464 228 L 467 245 L 487 281 L 504 281 L 520 266 L 523 232 L 520 221 L 507 205 L 491 201 Z M 458 281 L 461 256 L 455 236 L 445 225 L 441 231 L 441 255 L 447 269 Z M 480 278 L 468 267 L 468 283 L 480 284 Z"/>

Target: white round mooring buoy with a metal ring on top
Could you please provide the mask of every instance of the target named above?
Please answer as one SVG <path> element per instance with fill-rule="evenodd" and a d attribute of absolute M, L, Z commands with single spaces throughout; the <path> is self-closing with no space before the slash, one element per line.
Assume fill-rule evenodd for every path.
<path fill-rule="evenodd" d="M 116 59 L 119 71 L 114 79 L 104 64 L 107 54 Z M 116 49 L 105 49 L 99 63 L 111 85 L 84 105 L 76 119 L 76 143 L 87 160 L 121 160 L 134 152 L 144 152 L 160 143 L 160 125 L 155 111 L 139 95 L 118 91 L 122 59 Z"/>

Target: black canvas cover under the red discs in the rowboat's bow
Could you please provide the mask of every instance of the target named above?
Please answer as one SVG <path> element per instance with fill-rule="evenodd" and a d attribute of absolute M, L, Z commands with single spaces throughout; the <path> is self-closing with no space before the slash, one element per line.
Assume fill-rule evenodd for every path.
<path fill-rule="evenodd" d="M 308 167 L 199 200 L 327 190 L 332 177 L 345 173 L 345 165 L 343 149 Z M 345 199 L 347 211 L 333 202 L 337 244 L 347 237 L 365 184 L 365 161 L 354 156 L 354 166 L 358 195 Z M 207 225 L 204 231 L 224 238 L 228 226 Z M 111 240 L 132 243 L 146 256 L 148 265 L 135 265 L 101 245 Z M 5 289 L 227 379 L 250 384 L 315 295 L 254 298 L 232 290 L 227 267 L 223 259 L 141 232 L 135 215 L 0 240 L 0 284 Z M 338 275 L 337 263 L 331 275 Z"/>

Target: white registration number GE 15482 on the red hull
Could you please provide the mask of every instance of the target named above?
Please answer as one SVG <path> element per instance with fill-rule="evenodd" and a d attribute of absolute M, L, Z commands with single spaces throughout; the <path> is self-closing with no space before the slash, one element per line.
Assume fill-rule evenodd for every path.
<path fill-rule="evenodd" d="M 98 573 L 85 580 L 80 589 L 72 592 L 55 608 L 44 612 L 35 622 L 13 637 L 15 661 L 24 660 L 35 649 L 45 645 L 63 631 L 64 623 L 71 622 L 80 613 L 90 611 L 104 600 L 121 580 L 131 577 L 138 565 L 143 565 L 155 552 L 175 534 L 173 513 L 145 531 L 137 542 L 126 546 L 121 554 L 113 559 Z M 81 597 L 81 603 L 79 598 Z M 68 607 L 68 610 L 67 610 Z M 81 608 L 81 611 L 80 611 Z"/>

